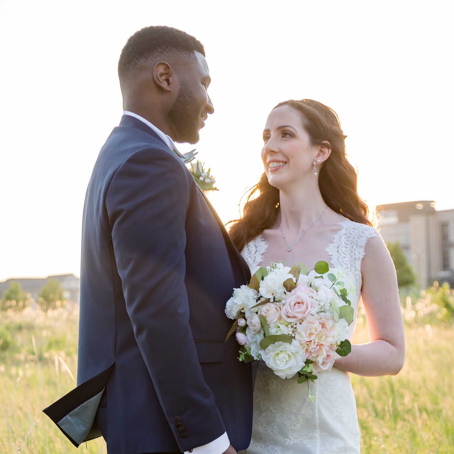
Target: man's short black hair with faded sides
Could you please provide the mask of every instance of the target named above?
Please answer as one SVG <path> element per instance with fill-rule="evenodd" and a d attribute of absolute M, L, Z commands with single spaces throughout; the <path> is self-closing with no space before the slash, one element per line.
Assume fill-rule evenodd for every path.
<path fill-rule="evenodd" d="M 205 57 L 203 45 L 184 31 L 164 25 L 145 27 L 128 39 L 118 61 L 118 76 L 127 78 L 140 64 L 175 54 L 195 59 L 194 52 Z"/>

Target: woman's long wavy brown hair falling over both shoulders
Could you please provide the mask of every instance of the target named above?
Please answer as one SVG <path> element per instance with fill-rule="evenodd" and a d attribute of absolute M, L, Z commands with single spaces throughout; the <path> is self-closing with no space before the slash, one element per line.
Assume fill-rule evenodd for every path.
<path fill-rule="evenodd" d="M 290 99 L 279 103 L 274 109 L 284 105 L 299 112 L 312 145 L 319 145 L 325 140 L 331 145 L 331 154 L 319 171 L 319 189 L 324 202 L 333 211 L 352 221 L 372 225 L 369 209 L 357 192 L 357 175 L 345 153 L 344 139 L 347 136 L 340 128 L 337 114 L 312 99 Z M 269 184 L 264 173 L 247 196 L 243 216 L 231 221 L 234 224 L 230 227 L 229 235 L 239 251 L 247 242 L 275 224 L 278 207 L 279 189 Z"/>

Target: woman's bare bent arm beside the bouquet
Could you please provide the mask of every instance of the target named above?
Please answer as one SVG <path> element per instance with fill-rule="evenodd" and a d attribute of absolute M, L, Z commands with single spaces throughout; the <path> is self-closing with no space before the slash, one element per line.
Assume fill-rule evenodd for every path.
<path fill-rule="evenodd" d="M 396 375 L 404 365 L 404 325 L 394 264 L 380 237 L 366 243 L 361 273 L 370 342 L 352 345 L 334 366 L 357 375 Z"/>

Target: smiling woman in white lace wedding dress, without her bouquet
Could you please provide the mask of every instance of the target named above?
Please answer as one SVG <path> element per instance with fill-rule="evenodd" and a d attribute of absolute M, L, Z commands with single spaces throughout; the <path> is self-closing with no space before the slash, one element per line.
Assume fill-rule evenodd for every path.
<path fill-rule="evenodd" d="M 278 104 L 269 114 L 262 160 L 265 173 L 249 194 L 244 215 L 230 229 L 252 273 L 283 260 L 314 268 L 324 260 L 345 272 L 354 322 L 361 297 L 370 342 L 352 345 L 331 370 L 310 382 L 315 396 L 255 362 L 252 440 L 247 454 L 359 453 L 360 434 L 349 372 L 395 375 L 404 362 L 404 328 L 394 265 L 345 155 L 337 115 L 303 99 Z M 255 197 L 258 194 L 258 197 Z"/>

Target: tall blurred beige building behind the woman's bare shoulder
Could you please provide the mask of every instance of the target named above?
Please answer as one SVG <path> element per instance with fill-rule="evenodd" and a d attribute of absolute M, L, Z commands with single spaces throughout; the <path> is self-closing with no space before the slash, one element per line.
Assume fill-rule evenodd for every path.
<path fill-rule="evenodd" d="M 454 286 L 454 210 L 429 200 L 381 205 L 379 229 L 385 242 L 400 243 L 419 285 Z"/>

